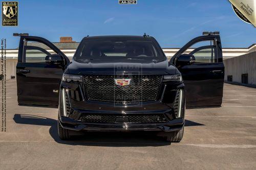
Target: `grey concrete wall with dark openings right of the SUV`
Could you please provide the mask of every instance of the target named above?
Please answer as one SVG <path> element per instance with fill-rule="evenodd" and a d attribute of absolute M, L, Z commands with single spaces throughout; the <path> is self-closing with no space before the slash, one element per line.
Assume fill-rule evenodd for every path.
<path fill-rule="evenodd" d="M 225 65 L 225 81 L 232 75 L 233 82 L 241 83 L 242 74 L 248 74 L 248 84 L 256 85 L 256 52 L 233 57 L 223 61 Z"/>

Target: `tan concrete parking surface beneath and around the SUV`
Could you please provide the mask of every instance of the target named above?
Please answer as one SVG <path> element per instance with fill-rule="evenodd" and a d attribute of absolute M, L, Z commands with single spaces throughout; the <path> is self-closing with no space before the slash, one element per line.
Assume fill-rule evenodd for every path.
<path fill-rule="evenodd" d="M 186 110 L 183 140 L 151 133 L 57 135 L 57 109 L 17 105 L 7 81 L 0 169 L 256 169 L 256 88 L 224 85 L 220 108 Z"/>

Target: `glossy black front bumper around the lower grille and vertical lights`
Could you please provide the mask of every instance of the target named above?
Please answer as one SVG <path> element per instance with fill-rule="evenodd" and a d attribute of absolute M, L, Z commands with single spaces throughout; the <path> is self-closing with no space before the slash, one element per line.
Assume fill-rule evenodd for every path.
<path fill-rule="evenodd" d="M 84 94 L 83 86 L 79 83 L 66 83 L 61 82 L 61 89 L 67 89 L 72 92 L 68 98 L 70 99 L 71 108 L 70 114 L 63 116 L 63 107 L 60 95 L 59 105 L 59 124 L 64 129 L 73 131 L 163 131 L 171 132 L 178 131 L 184 126 L 184 103 L 185 97 L 182 98 L 181 117 L 174 113 L 174 105 L 176 101 L 177 90 L 184 90 L 184 84 L 181 83 L 163 83 L 156 101 L 141 102 L 136 104 L 115 104 L 108 102 L 99 102 L 88 100 L 86 96 L 74 95 Z M 66 99 L 65 97 L 62 97 Z M 129 115 L 152 115 L 164 114 L 166 121 L 164 122 L 147 122 L 143 123 L 140 118 L 138 121 L 112 121 L 111 123 L 96 123 L 94 119 L 89 122 L 82 121 L 81 117 L 86 114 L 112 114 L 116 116 L 129 116 Z M 97 118 L 97 117 L 96 117 Z M 130 120 L 130 118 L 129 118 Z M 140 121 L 141 120 L 141 121 Z"/>

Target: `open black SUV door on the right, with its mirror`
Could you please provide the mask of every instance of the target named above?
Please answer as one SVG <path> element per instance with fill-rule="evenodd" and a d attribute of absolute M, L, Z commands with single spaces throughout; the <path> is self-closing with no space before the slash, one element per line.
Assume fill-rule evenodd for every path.
<path fill-rule="evenodd" d="M 190 48 L 194 45 L 196 47 Z M 218 32 L 205 32 L 192 39 L 171 58 L 170 63 L 182 74 L 187 108 L 221 106 L 224 64 Z"/>

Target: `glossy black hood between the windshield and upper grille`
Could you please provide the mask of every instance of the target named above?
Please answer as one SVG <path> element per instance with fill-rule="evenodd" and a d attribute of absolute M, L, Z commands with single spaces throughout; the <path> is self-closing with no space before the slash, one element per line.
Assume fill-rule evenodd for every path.
<path fill-rule="evenodd" d="M 80 63 L 72 60 L 67 74 L 86 75 L 86 74 L 117 74 L 117 73 L 141 73 L 141 74 L 176 74 L 176 67 L 170 65 L 168 60 L 117 60 L 108 62 L 107 60 L 88 60 Z"/>

